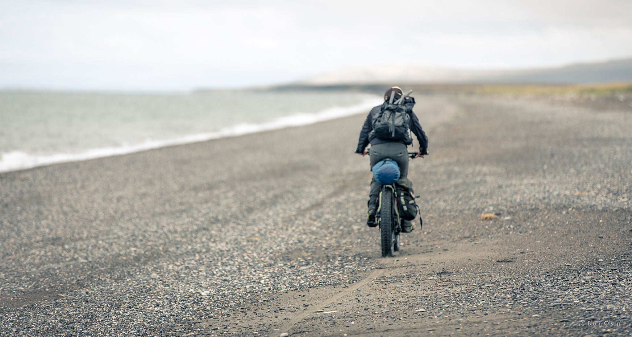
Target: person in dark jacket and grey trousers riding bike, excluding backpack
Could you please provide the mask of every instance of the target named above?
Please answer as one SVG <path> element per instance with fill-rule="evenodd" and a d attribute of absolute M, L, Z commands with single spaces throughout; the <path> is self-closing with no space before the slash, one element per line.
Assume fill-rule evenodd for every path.
<path fill-rule="evenodd" d="M 392 94 L 394 92 L 394 95 Z M 371 153 L 370 153 L 370 165 L 374 167 L 377 162 L 380 160 L 384 160 L 385 158 L 391 158 L 399 165 L 399 170 L 401 172 L 400 179 L 406 178 L 408 175 L 408 145 L 413 144 L 413 139 L 410 136 L 409 132 L 406 132 L 406 135 L 400 139 L 384 139 L 375 136 L 375 132 L 373 130 L 373 120 L 377 118 L 380 112 L 383 111 L 384 107 L 389 103 L 389 99 L 394 97 L 394 99 L 399 99 L 404 93 L 401 88 L 398 86 L 393 86 L 389 90 L 384 93 L 384 103 L 382 105 L 378 105 L 371 109 L 371 111 L 367 115 L 367 119 L 362 126 L 362 131 L 360 131 L 360 139 L 358 140 L 358 148 L 356 148 L 355 153 L 358 155 L 362 155 L 363 157 L 367 154 L 367 145 L 371 145 Z M 428 137 L 423 132 L 421 124 L 419 124 L 419 119 L 413 112 L 413 106 L 415 105 L 415 98 L 406 97 L 404 98 L 403 105 L 406 107 L 406 113 L 410 114 L 408 129 L 413 131 L 418 142 L 419 142 L 419 152 L 415 155 L 416 157 L 423 158 L 424 155 L 428 154 Z M 375 206 L 377 205 L 377 197 L 380 192 L 380 184 L 375 181 L 375 178 L 371 180 L 371 190 L 369 192 L 368 199 L 368 213 L 367 213 L 367 225 L 368 227 L 375 227 L 377 223 L 375 223 Z M 408 230 L 407 230 L 408 232 Z"/>

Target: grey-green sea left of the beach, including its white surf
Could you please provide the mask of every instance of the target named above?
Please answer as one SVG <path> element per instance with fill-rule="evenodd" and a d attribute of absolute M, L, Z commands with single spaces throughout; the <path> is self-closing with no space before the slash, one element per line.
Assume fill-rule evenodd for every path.
<path fill-rule="evenodd" d="M 356 92 L 0 92 L 0 172 L 368 113 Z"/>

